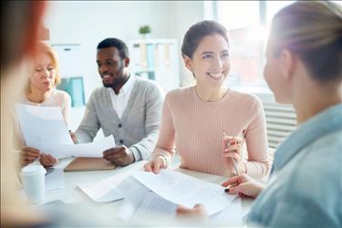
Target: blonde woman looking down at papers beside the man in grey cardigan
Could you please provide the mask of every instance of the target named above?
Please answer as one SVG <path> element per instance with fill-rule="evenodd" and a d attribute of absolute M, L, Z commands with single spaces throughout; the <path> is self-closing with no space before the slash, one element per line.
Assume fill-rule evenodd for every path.
<path fill-rule="evenodd" d="M 47 44 L 39 43 L 38 53 L 34 59 L 25 96 L 21 103 L 33 106 L 60 107 L 64 119 L 68 122 L 71 98 L 67 92 L 56 88 L 59 80 L 56 53 Z M 19 143 L 25 145 L 25 142 Z M 44 166 L 52 166 L 57 163 L 56 158 L 43 153 L 43 151 L 26 146 L 21 148 L 20 161 L 23 166 L 35 161 L 39 156 L 39 161 Z"/>

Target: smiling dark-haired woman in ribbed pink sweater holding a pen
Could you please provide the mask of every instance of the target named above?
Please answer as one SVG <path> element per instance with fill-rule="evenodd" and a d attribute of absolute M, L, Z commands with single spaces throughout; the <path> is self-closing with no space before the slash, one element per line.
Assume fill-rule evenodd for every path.
<path fill-rule="evenodd" d="M 181 54 L 196 85 L 167 94 L 160 137 L 146 171 L 167 168 L 177 150 L 184 169 L 230 177 L 237 174 L 234 159 L 239 173 L 262 178 L 268 172 L 260 100 L 223 85 L 231 68 L 229 49 L 227 30 L 217 22 L 202 21 L 188 30 Z M 231 137 L 223 139 L 223 132 Z"/>

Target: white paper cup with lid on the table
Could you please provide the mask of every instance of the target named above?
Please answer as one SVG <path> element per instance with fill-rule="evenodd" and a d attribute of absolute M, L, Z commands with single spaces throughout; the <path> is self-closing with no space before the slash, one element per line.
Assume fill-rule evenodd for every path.
<path fill-rule="evenodd" d="M 41 165 L 28 165 L 21 170 L 20 177 L 29 202 L 36 204 L 44 201 L 46 173 Z"/>

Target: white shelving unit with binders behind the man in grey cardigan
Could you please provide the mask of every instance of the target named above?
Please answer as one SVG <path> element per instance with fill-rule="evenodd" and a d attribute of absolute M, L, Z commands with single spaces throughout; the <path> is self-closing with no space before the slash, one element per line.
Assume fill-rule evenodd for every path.
<path fill-rule="evenodd" d="M 180 87 L 177 40 L 136 39 L 129 45 L 132 74 L 157 81 L 165 92 Z"/>

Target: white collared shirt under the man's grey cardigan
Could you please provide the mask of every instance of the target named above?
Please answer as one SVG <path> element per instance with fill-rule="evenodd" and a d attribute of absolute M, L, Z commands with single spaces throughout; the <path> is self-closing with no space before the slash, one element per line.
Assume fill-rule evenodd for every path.
<path fill-rule="evenodd" d="M 134 82 L 135 77 L 130 75 L 130 78 L 126 81 L 122 88 L 119 89 L 118 95 L 115 94 L 113 88 L 108 88 L 113 109 L 117 112 L 119 119 L 121 119 L 123 111 L 126 109 L 127 104 L 129 103 Z"/>

